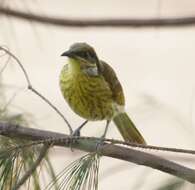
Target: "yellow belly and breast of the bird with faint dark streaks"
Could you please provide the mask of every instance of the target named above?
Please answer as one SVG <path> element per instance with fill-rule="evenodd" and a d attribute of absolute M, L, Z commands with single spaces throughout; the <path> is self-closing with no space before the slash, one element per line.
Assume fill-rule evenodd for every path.
<path fill-rule="evenodd" d="M 67 76 L 60 81 L 60 87 L 72 110 L 81 117 L 104 120 L 114 115 L 112 92 L 101 78 Z"/>

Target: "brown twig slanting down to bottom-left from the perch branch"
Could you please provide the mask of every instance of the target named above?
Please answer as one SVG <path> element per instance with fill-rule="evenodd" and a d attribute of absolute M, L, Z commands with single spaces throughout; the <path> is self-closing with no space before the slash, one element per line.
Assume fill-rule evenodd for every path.
<path fill-rule="evenodd" d="M 43 145 L 37 160 L 32 164 L 31 168 L 29 168 L 29 170 L 24 174 L 24 176 L 19 180 L 19 182 L 12 188 L 12 190 L 18 190 L 26 182 L 26 180 L 32 175 L 32 173 L 36 170 L 36 168 L 39 166 L 39 164 L 47 154 L 48 148 L 49 148 L 48 144 Z"/>

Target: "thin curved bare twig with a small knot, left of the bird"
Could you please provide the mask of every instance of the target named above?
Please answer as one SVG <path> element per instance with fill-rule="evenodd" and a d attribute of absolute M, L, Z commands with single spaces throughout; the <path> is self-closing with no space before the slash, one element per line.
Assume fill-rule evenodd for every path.
<path fill-rule="evenodd" d="M 0 50 L 6 52 L 9 56 L 11 56 L 20 66 L 20 68 L 22 69 L 22 72 L 24 73 L 27 85 L 28 85 L 28 89 L 31 90 L 34 94 L 36 94 L 37 96 L 39 96 L 42 100 L 44 100 L 48 105 L 50 105 L 57 113 L 58 115 L 64 120 L 64 122 L 67 124 L 70 134 L 72 134 L 73 130 L 72 127 L 70 125 L 70 123 L 68 122 L 68 120 L 65 118 L 65 116 L 58 110 L 58 108 L 56 106 L 54 106 L 46 97 L 44 97 L 40 92 L 38 92 L 31 84 L 31 81 L 29 79 L 29 76 L 24 68 L 24 66 L 22 65 L 22 63 L 20 62 L 20 60 L 9 50 L 7 50 L 4 47 L 0 46 Z"/>

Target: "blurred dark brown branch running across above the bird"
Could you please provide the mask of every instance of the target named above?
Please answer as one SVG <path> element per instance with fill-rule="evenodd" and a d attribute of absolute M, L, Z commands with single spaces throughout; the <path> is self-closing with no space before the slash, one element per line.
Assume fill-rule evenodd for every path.
<path fill-rule="evenodd" d="M 183 27 L 195 25 L 195 16 L 148 19 L 70 19 L 42 16 L 0 7 L 1 15 L 61 27 Z"/>

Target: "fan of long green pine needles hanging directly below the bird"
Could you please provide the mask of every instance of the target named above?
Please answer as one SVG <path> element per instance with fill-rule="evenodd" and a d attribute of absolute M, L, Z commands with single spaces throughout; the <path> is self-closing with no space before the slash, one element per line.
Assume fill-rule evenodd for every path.
<path fill-rule="evenodd" d="M 100 155 L 89 153 L 62 170 L 45 190 L 58 182 L 59 190 L 97 190 Z"/>

